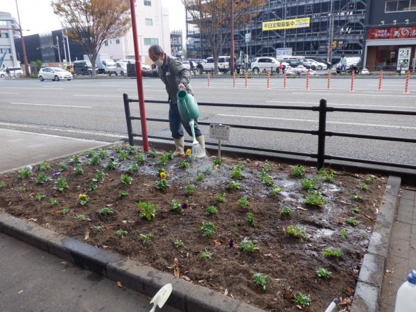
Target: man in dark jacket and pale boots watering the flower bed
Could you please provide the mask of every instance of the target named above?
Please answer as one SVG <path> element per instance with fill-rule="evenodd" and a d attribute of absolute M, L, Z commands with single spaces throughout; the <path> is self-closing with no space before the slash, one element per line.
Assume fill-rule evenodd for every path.
<path fill-rule="evenodd" d="M 185 69 L 182 63 L 177 58 L 171 55 L 166 55 L 161 46 L 154 44 L 149 48 L 149 58 L 155 62 L 157 69 L 150 71 L 143 71 L 144 77 L 159 77 L 166 86 L 166 92 L 168 92 L 169 101 L 169 128 L 171 128 L 172 137 L 175 140 L 175 157 L 184 157 L 184 130 L 187 130 L 189 135 L 191 133 L 191 127 L 189 123 L 182 121 L 180 118 L 180 112 L 177 108 L 177 92 L 180 89 L 186 90 L 189 94 L 193 95 L 191 86 L 189 85 L 191 80 L 191 71 Z M 182 128 L 183 127 L 183 128 Z M 195 123 L 195 136 L 196 140 L 201 146 L 202 153 L 198 153 L 198 157 L 205 157 L 205 140 L 198 123 Z"/>

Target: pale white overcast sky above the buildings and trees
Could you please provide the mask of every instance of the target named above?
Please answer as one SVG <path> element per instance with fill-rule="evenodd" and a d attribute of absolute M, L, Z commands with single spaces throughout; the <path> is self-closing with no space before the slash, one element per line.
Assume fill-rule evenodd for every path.
<path fill-rule="evenodd" d="M 60 29 L 60 20 L 53 14 L 51 0 L 17 0 L 20 21 L 24 35 L 46 33 Z M 171 29 L 185 30 L 185 11 L 181 0 L 162 0 L 162 6 L 169 9 Z M 0 0 L 0 11 L 12 13 L 17 20 L 15 0 Z"/>

